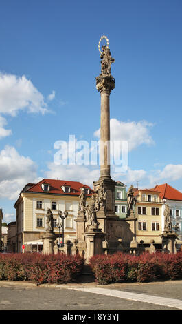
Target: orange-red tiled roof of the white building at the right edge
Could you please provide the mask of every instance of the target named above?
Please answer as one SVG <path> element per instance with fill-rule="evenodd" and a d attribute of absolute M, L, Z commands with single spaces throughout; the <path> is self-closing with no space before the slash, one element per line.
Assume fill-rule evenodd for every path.
<path fill-rule="evenodd" d="M 182 192 L 164 183 L 163 185 L 156 185 L 152 190 L 159 191 L 161 199 L 172 199 L 172 200 L 181 200 L 182 201 Z"/>

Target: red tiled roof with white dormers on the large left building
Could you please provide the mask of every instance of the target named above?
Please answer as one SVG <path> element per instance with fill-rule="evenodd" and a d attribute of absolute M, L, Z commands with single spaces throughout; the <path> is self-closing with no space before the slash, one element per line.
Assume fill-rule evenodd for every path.
<path fill-rule="evenodd" d="M 43 191 L 43 188 L 41 187 L 42 184 L 49 184 L 50 190 Z M 71 187 L 71 192 L 63 192 L 62 186 Z M 26 192 L 38 192 L 38 193 L 44 193 L 47 194 L 67 194 L 67 195 L 75 195 L 78 196 L 80 194 L 80 188 L 88 188 L 90 189 L 90 196 L 93 193 L 93 190 L 89 187 L 89 185 L 83 185 L 82 183 L 78 181 L 65 181 L 65 180 L 55 180 L 55 179 L 42 179 L 38 183 L 34 184 L 30 189 L 26 190 Z M 75 192 L 73 192 L 73 190 Z"/>

